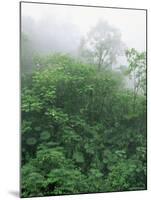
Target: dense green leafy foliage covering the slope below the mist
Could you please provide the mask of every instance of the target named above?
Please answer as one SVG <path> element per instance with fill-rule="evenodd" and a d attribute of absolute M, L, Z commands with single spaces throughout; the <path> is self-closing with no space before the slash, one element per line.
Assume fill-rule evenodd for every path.
<path fill-rule="evenodd" d="M 120 73 L 37 56 L 22 84 L 22 197 L 146 189 L 146 97 Z M 27 84 L 28 82 L 28 84 Z"/>

